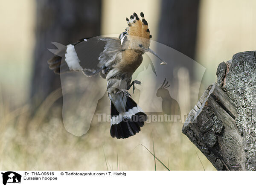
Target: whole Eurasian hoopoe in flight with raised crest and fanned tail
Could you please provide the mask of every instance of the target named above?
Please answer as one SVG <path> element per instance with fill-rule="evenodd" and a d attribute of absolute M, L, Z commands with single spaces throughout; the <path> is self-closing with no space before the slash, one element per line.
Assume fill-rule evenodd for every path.
<path fill-rule="evenodd" d="M 134 12 L 128 28 L 119 38 L 86 38 L 67 46 L 58 45 L 55 56 L 48 61 L 55 73 L 81 71 L 86 76 L 100 73 L 108 82 L 107 91 L 111 101 L 111 137 L 128 138 L 140 131 L 147 120 L 143 110 L 131 99 L 127 90 L 140 81 L 132 81 L 132 75 L 143 61 L 142 55 L 151 52 L 161 64 L 166 64 L 149 49 L 151 35 L 143 12 L 142 20 Z"/>

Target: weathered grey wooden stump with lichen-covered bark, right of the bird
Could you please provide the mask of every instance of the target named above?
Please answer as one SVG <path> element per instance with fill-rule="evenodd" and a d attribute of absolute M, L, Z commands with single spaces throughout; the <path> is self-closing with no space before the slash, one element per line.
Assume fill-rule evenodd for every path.
<path fill-rule="evenodd" d="M 182 132 L 217 170 L 256 170 L 256 51 L 219 64 Z"/>

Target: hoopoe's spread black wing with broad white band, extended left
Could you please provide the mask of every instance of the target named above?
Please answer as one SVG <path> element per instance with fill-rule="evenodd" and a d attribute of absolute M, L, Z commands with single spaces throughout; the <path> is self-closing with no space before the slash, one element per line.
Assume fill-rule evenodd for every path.
<path fill-rule="evenodd" d="M 49 49 L 55 54 L 48 61 L 49 68 L 60 74 L 81 71 L 86 76 L 94 76 L 122 50 L 119 38 L 84 38 L 67 46 L 52 44 L 58 49 Z"/>

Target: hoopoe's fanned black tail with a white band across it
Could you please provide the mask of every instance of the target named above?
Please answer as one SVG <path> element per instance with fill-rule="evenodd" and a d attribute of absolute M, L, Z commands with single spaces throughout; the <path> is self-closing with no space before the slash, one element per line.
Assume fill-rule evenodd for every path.
<path fill-rule="evenodd" d="M 125 113 L 119 113 L 111 102 L 111 137 L 124 139 L 134 136 L 146 120 L 147 115 L 130 97 L 127 97 Z"/>

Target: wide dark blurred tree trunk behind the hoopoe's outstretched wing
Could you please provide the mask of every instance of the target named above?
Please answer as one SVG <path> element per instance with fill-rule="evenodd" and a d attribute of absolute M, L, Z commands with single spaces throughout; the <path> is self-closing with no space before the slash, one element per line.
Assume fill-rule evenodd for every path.
<path fill-rule="evenodd" d="M 49 70 L 47 64 L 53 56 L 48 48 L 55 49 L 51 42 L 67 45 L 80 38 L 100 35 L 101 5 L 101 0 L 36 1 L 33 105 L 38 106 L 49 93 L 61 87 L 60 76 Z"/>

